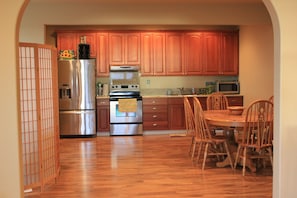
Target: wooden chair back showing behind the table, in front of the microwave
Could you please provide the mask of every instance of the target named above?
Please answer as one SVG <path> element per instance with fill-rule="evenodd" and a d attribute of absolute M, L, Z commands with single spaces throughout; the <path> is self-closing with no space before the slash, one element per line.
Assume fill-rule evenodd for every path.
<path fill-rule="evenodd" d="M 229 106 L 227 97 L 220 92 L 215 92 L 207 96 L 207 110 L 224 110 Z"/>

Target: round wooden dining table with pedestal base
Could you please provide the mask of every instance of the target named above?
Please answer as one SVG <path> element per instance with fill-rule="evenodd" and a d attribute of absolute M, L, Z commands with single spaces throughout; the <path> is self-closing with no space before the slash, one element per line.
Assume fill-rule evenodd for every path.
<path fill-rule="evenodd" d="M 232 153 L 232 161 L 234 161 L 239 137 L 242 134 L 245 125 L 245 112 L 242 114 L 233 114 L 229 110 L 206 110 L 204 111 L 204 118 L 210 127 L 222 128 L 226 133 L 223 135 L 228 139 L 230 152 Z M 241 163 L 241 162 L 239 162 Z M 230 165 L 228 157 L 222 161 L 217 162 L 217 167 L 225 167 Z M 251 172 L 256 172 L 255 164 L 247 160 L 246 166 Z"/>

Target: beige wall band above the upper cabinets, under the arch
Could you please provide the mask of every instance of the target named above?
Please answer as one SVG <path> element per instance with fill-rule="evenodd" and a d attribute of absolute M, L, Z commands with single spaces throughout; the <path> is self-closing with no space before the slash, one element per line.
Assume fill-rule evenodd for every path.
<path fill-rule="evenodd" d="M 58 1 L 30 3 L 20 29 L 21 42 L 44 42 L 44 25 L 249 25 L 270 24 L 265 6 L 125 1 Z M 162 1 L 159 1 L 162 2 Z M 190 1 L 191 2 L 191 1 Z M 219 2 L 219 1 L 218 1 Z M 228 4 L 227 4 L 228 5 Z"/>

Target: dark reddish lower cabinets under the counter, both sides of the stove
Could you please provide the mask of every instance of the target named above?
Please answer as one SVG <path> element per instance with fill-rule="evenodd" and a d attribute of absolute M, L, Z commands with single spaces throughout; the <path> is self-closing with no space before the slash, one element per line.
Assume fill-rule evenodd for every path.
<path fill-rule="evenodd" d="M 227 96 L 229 106 L 243 106 L 243 96 Z M 206 110 L 207 96 L 198 96 Z M 183 97 L 143 97 L 143 130 L 186 128 Z M 109 132 L 109 99 L 97 99 L 97 132 Z"/>

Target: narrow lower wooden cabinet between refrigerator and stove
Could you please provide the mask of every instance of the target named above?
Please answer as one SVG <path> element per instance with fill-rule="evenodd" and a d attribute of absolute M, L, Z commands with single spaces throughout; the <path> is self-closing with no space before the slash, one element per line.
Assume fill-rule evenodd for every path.
<path fill-rule="evenodd" d="M 109 132 L 109 99 L 100 98 L 97 99 L 97 132 Z"/>

